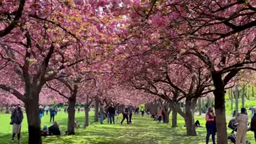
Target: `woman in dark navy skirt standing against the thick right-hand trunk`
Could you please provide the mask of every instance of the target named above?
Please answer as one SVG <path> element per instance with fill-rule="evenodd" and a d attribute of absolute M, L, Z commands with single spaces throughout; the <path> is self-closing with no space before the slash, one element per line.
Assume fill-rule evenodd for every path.
<path fill-rule="evenodd" d="M 213 112 L 213 108 L 208 108 L 208 112 L 205 115 L 206 119 L 206 144 L 209 143 L 210 135 L 212 135 L 212 143 L 215 143 L 215 135 L 216 135 L 216 122 L 215 122 L 215 115 Z"/>

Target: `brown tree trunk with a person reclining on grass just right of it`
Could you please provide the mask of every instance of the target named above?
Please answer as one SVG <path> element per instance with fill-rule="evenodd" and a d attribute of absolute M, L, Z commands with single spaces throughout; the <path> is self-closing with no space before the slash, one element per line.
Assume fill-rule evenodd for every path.
<path fill-rule="evenodd" d="M 197 136 L 196 127 L 194 126 L 194 112 L 192 110 L 191 100 L 186 99 L 185 103 L 185 123 L 187 136 Z"/>

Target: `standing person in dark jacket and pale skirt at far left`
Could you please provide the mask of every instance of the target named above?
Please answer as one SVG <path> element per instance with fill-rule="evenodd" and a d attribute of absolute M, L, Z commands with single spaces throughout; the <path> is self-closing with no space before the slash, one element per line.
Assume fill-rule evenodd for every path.
<path fill-rule="evenodd" d="M 20 129 L 21 129 L 22 120 L 23 120 L 23 112 L 21 110 L 21 106 L 18 106 L 17 109 L 14 108 L 14 111 L 12 112 L 12 116 L 11 116 L 11 124 L 13 124 L 12 142 L 14 141 L 15 134 L 17 134 L 18 143 L 22 142 L 20 140 Z"/>

